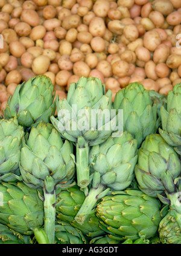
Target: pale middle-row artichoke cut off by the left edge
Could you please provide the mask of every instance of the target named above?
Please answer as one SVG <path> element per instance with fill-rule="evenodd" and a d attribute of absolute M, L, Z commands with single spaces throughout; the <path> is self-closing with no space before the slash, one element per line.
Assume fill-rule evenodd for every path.
<path fill-rule="evenodd" d="M 16 118 L 0 120 L 0 180 L 21 180 L 19 160 L 24 129 Z"/>

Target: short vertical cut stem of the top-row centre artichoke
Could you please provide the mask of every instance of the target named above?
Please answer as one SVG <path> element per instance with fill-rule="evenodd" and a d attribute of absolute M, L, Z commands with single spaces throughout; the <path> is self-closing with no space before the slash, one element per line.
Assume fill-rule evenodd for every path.
<path fill-rule="evenodd" d="M 79 187 L 87 187 L 89 180 L 89 146 L 87 143 L 81 145 L 79 141 L 76 144 L 76 167 L 77 184 Z"/>

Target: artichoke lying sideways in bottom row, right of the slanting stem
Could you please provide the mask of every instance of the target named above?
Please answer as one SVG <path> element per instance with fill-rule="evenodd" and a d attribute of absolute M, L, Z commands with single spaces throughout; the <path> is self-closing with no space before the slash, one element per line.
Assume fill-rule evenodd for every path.
<path fill-rule="evenodd" d="M 160 202 L 140 190 L 112 192 L 95 209 L 102 229 L 117 240 L 153 237 L 161 220 Z"/>

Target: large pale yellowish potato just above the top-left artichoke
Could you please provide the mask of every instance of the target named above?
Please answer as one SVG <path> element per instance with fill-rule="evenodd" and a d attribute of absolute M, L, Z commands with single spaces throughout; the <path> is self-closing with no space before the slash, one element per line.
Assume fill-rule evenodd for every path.
<path fill-rule="evenodd" d="M 31 69 L 36 75 L 42 75 L 48 70 L 50 59 L 48 56 L 39 55 L 33 59 Z"/>

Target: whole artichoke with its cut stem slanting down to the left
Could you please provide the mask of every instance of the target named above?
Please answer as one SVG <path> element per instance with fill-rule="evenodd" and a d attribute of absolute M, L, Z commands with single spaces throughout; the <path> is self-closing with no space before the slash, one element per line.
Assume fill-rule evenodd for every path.
<path fill-rule="evenodd" d="M 92 187 L 75 217 L 78 223 L 83 223 L 86 213 L 92 211 L 110 189 L 123 190 L 132 183 L 137 159 L 137 141 L 127 131 L 120 137 L 110 136 L 104 143 L 90 149 Z"/>

